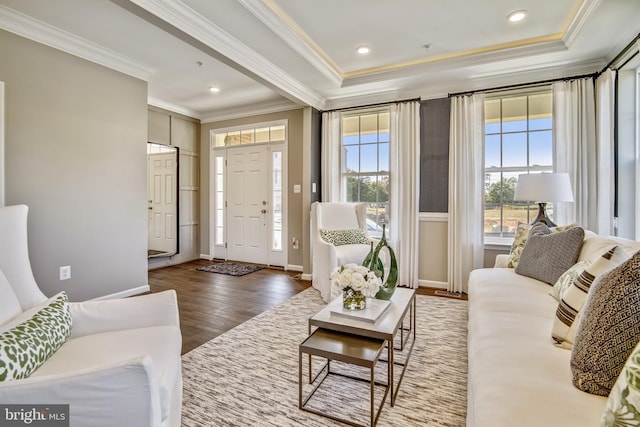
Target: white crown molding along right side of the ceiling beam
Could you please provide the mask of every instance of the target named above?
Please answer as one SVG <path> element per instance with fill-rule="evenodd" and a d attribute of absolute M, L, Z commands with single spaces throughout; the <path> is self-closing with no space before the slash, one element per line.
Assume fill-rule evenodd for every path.
<path fill-rule="evenodd" d="M 321 109 L 325 99 L 179 0 L 129 0 L 226 58 L 228 65 L 287 98 Z"/>

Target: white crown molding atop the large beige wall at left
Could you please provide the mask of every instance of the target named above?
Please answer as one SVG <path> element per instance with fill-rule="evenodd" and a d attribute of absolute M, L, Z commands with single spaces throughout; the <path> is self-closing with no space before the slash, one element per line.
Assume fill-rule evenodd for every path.
<path fill-rule="evenodd" d="M 3 5 L 0 28 L 140 80 L 149 81 L 155 72 L 125 55 Z"/>

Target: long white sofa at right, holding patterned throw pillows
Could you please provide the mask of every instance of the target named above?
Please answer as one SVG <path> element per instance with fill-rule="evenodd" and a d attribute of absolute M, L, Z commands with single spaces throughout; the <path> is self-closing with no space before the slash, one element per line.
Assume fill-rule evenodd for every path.
<path fill-rule="evenodd" d="M 578 262 L 614 245 L 631 256 L 640 243 L 586 232 Z M 499 256 L 496 265 L 504 265 Z M 571 350 L 554 346 L 552 287 L 512 268 L 469 276 L 468 427 L 599 426 L 606 397 L 571 382 Z"/>

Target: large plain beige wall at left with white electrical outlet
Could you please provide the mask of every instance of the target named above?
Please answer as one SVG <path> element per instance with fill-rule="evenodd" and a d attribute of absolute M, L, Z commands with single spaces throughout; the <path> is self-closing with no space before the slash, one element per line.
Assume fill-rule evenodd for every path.
<path fill-rule="evenodd" d="M 145 82 L 0 30 L 6 204 L 29 205 L 43 292 L 147 287 Z M 59 280 L 59 267 L 71 279 Z"/>

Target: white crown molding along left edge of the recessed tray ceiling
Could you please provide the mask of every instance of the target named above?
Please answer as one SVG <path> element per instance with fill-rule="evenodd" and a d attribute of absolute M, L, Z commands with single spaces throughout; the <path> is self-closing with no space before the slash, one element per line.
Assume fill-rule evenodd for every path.
<path fill-rule="evenodd" d="M 271 0 L 239 0 L 274 34 L 298 52 L 334 86 L 342 86 L 342 73 L 338 66 L 318 47 L 305 32 Z"/>

